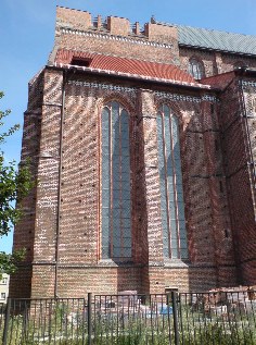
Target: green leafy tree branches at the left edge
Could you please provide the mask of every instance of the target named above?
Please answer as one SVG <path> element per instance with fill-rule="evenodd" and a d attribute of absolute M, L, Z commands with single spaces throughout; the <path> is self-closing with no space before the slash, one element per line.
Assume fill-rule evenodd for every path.
<path fill-rule="evenodd" d="M 0 91 L 0 99 L 3 93 Z M 33 187 L 29 164 L 16 170 L 15 161 L 5 162 L 2 145 L 7 137 L 18 131 L 20 125 L 15 124 L 7 132 L 1 131 L 4 119 L 11 113 L 10 110 L 0 110 L 0 237 L 8 235 L 12 227 L 22 217 L 22 210 L 16 207 L 22 198 L 27 196 Z M 25 249 L 16 250 L 12 255 L 0 251 L 0 276 L 1 273 L 13 273 L 16 263 L 25 256 Z"/>

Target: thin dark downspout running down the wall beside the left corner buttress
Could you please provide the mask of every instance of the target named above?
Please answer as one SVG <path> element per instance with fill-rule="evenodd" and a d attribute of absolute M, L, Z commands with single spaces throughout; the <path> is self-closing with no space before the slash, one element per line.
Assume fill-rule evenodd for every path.
<path fill-rule="evenodd" d="M 57 181 L 57 209 L 56 209 L 56 243 L 55 243 L 55 274 L 54 274 L 54 298 L 57 298 L 57 269 L 59 269 L 59 244 L 60 244 L 60 224 L 61 224 L 61 185 L 62 185 L 62 148 L 63 148 L 63 124 L 65 115 L 65 86 L 67 82 L 67 71 L 63 71 L 62 83 L 62 103 L 61 103 L 61 123 L 60 123 L 60 149 L 59 149 L 59 181 Z"/>

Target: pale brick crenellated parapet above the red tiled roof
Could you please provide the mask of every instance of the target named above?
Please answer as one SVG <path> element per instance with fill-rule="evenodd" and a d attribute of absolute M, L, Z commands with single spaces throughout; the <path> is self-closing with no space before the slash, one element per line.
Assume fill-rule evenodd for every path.
<path fill-rule="evenodd" d="M 87 11 L 62 7 L 56 8 L 55 44 L 49 64 L 56 62 L 60 50 L 179 65 L 176 26 L 151 19 L 141 27 L 139 22 L 131 24 L 125 17 L 92 17 Z"/>

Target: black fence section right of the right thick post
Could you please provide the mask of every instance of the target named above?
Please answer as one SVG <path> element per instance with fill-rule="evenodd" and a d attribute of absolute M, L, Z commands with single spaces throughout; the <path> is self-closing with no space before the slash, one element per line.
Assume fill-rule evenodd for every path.
<path fill-rule="evenodd" d="M 256 344 L 254 292 L 180 294 L 180 344 Z"/>

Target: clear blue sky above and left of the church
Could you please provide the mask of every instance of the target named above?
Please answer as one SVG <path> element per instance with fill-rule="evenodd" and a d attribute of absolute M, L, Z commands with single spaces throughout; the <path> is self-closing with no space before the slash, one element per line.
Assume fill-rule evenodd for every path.
<path fill-rule="evenodd" d="M 256 35 L 255 0 L 0 0 L 0 109 L 12 109 L 7 125 L 23 124 L 27 83 L 46 65 L 53 47 L 55 7 L 117 15 L 143 25 L 157 21 Z M 22 131 L 4 146 L 7 160 L 20 160 Z M 0 239 L 11 251 L 12 234 Z"/>

